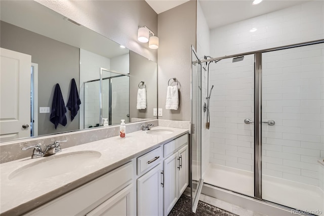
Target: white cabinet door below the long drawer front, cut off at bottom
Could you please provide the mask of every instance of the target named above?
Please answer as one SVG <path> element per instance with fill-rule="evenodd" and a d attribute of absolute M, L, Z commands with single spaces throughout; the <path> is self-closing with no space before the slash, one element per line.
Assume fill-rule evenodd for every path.
<path fill-rule="evenodd" d="M 134 215 L 134 185 L 131 184 L 107 201 L 93 209 L 86 216 L 131 216 Z"/>

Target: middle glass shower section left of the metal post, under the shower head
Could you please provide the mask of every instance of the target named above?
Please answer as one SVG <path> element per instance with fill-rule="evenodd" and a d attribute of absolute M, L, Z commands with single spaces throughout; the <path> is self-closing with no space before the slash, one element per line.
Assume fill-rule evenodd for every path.
<path fill-rule="evenodd" d="M 254 54 L 210 64 L 209 86 L 214 88 L 209 108 L 210 160 L 204 175 L 206 184 L 251 197 L 258 143 L 254 141 L 254 74 Z"/>

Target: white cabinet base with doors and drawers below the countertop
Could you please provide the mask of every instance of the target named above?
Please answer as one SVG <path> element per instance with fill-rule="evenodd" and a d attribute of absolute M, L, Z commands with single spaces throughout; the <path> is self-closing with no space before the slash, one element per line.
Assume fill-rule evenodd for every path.
<path fill-rule="evenodd" d="M 25 215 L 168 215 L 188 186 L 188 158 L 184 134 Z"/>

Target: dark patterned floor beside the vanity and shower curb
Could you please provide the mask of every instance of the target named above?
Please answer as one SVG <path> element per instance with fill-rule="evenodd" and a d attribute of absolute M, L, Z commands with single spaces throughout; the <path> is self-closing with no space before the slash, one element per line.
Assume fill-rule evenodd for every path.
<path fill-rule="evenodd" d="M 179 198 L 178 202 L 175 204 L 173 209 L 170 211 L 168 216 L 235 216 L 237 214 L 233 214 L 231 212 L 225 211 L 223 209 L 217 208 L 213 205 L 207 204 L 199 200 L 196 213 L 191 212 L 191 203 L 190 197 L 182 194 Z"/>

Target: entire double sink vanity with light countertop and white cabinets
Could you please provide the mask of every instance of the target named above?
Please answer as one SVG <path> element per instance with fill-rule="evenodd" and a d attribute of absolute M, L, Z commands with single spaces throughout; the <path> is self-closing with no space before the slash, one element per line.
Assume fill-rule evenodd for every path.
<path fill-rule="evenodd" d="M 2 163 L 1 215 L 167 215 L 188 159 L 188 129 L 157 126 Z"/>

